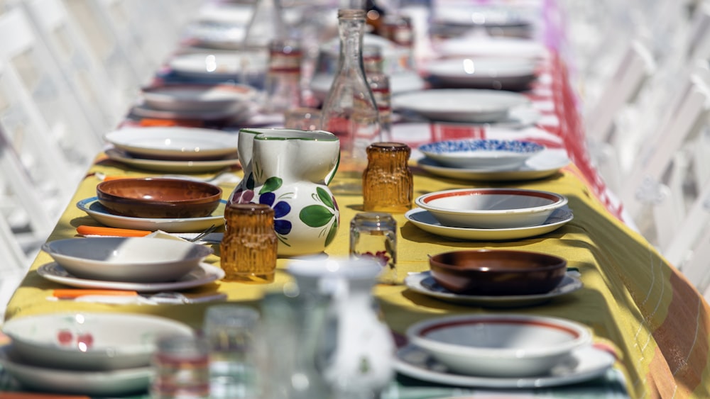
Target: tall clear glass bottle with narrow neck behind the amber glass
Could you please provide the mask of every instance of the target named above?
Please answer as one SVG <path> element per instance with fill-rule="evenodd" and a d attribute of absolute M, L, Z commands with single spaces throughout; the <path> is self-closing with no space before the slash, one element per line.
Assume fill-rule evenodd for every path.
<path fill-rule="evenodd" d="M 362 58 L 364 9 L 338 10 L 338 72 L 322 106 L 321 128 L 337 135 L 341 157 L 334 193 L 362 192 L 366 148 L 381 141 L 377 105 L 365 77 Z"/>

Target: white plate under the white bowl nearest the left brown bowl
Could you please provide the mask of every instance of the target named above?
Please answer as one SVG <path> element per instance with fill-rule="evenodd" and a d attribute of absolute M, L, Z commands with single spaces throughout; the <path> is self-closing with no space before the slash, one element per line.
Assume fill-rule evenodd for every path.
<path fill-rule="evenodd" d="M 164 283 L 130 283 L 127 281 L 80 279 L 79 277 L 69 274 L 69 272 L 57 262 L 43 264 L 37 269 L 37 274 L 55 283 L 62 283 L 77 288 L 100 288 L 138 292 L 177 291 L 204 286 L 204 284 L 224 278 L 224 270 L 205 262 L 202 262 L 179 280 L 166 281 Z"/>

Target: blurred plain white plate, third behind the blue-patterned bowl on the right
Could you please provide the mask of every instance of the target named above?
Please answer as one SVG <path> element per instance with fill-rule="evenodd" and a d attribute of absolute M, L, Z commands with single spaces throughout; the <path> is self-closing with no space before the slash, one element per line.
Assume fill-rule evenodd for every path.
<path fill-rule="evenodd" d="M 535 40 L 481 38 L 480 36 L 460 36 L 442 40 L 442 42 L 435 44 L 435 51 L 445 57 L 488 56 L 540 59 L 547 54 L 545 45 Z"/>

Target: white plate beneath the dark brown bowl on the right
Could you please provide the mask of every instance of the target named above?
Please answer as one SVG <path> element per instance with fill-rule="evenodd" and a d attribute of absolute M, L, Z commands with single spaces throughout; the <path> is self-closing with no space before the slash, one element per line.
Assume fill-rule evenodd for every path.
<path fill-rule="evenodd" d="M 579 290 L 582 288 L 582 283 L 576 275 L 576 271 L 567 271 L 567 274 L 564 275 L 557 287 L 548 293 L 515 296 L 481 296 L 452 293 L 437 283 L 434 277 L 432 277 L 431 271 L 409 274 L 405 277 L 404 283 L 408 288 L 417 293 L 422 293 L 426 296 L 431 296 L 446 302 L 481 306 L 484 308 L 518 308 L 522 306 L 540 305 L 540 303 L 545 303 L 557 296 Z"/>

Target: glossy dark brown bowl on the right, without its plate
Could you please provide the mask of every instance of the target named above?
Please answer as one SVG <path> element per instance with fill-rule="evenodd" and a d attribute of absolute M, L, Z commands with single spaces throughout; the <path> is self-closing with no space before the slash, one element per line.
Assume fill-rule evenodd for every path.
<path fill-rule="evenodd" d="M 474 249 L 429 257 L 432 277 L 454 293 L 514 296 L 547 293 L 567 272 L 567 261 L 540 252 Z"/>

